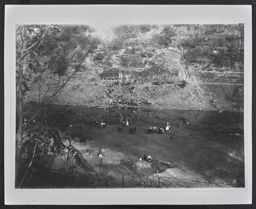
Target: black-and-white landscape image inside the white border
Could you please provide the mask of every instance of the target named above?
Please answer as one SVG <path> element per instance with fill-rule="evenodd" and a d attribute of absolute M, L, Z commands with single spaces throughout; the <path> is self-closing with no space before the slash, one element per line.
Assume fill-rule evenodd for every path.
<path fill-rule="evenodd" d="M 16 191 L 246 189 L 243 21 L 13 29 Z"/>

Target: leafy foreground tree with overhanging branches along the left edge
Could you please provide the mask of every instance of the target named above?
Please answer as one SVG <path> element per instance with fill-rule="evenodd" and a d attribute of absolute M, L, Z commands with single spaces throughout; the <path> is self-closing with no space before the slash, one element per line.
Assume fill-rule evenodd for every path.
<path fill-rule="evenodd" d="M 62 137 L 56 137 L 58 134 L 55 129 L 51 127 L 50 133 L 56 134 L 41 136 L 39 127 L 43 125 L 44 117 L 39 127 L 33 130 L 32 135 L 28 128 L 34 117 L 47 107 L 72 76 L 81 69 L 86 69 L 84 67 L 86 58 L 97 49 L 100 43 L 99 39 L 91 36 L 92 32 L 93 30 L 88 26 L 20 25 L 16 28 L 16 187 L 18 185 L 20 187 L 23 183 L 40 146 L 49 145 L 51 150 L 55 150 L 56 144 L 45 141 L 47 137 L 49 140 L 54 139 L 54 142 L 58 139 L 62 143 L 61 147 L 71 152 L 70 157 L 74 157 L 78 166 L 84 170 L 90 170 L 77 149 L 72 148 L 70 143 L 68 146 L 65 145 Z M 33 84 L 37 84 L 39 88 L 39 106 L 33 116 L 24 123 L 23 100 Z M 25 161 L 24 165 L 23 158 L 30 153 L 30 149 L 34 150 L 33 155 L 29 156 L 29 164 L 26 165 Z M 58 152 L 54 153 L 61 154 L 59 152 L 61 150 L 58 149 Z M 22 172 L 24 166 L 27 167 L 25 173 Z"/>

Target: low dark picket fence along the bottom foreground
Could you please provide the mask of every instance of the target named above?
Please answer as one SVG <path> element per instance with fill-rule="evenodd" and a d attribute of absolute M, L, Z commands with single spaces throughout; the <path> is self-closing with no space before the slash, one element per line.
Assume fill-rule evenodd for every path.
<path fill-rule="evenodd" d="M 80 173 L 77 171 L 51 170 L 47 173 L 33 173 L 27 179 L 40 179 L 44 184 L 42 187 L 50 188 L 92 188 L 92 189 L 111 189 L 111 188 L 160 188 L 161 182 L 157 177 L 135 177 L 133 175 L 100 176 L 95 173 Z"/>

